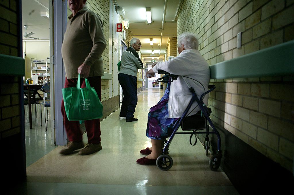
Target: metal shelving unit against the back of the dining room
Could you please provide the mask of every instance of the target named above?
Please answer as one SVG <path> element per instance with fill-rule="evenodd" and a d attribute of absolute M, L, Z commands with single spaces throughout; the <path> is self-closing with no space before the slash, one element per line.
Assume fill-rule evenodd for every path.
<path fill-rule="evenodd" d="M 46 62 L 37 62 L 39 60 L 31 58 L 31 75 L 40 74 L 39 77 L 42 79 L 50 78 L 50 69 L 49 69 L 49 57 L 46 58 Z M 46 66 L 46 69 L 38 69 L 38 67 Z M 37 68 L 33 68 L 37 67 Z"/>

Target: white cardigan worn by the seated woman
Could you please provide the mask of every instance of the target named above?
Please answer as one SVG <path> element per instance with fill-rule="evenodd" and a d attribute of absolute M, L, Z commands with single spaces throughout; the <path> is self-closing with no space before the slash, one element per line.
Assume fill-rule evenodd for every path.
<path fill-rule="evenodd" d="M 208 63 L 202 57 L 198 50 L 183 50 L 177 57 L 174 57 L 165 62 L 158 62 L 153 68 L 153 72 L 158 72 L 159 69 L 164 70 L 170 74 L 176 74 L 180 76 L 186 76 L 199 81 L 205 91 L 208 91 L 208 84 L 210 80 L 210 71 Z M 194 88 L 195 93 L 200 99 L 201 94 L 204 93 L 204 89 L 198 82 L 186 78 L 191 87 Z M 203 102 L 207 105 L 208 96 L 203 99 Z M 187 108 L 192 94 L 183 77 L 178 77 L 177 80 L 171 82 L 170 94 L 168 99 L 168 118 L 179 118 L 183 115 Z M 197 108 L 195 108 L 197 106 Z M 194 109 L 195 108 L 195 109 Z M 194 110 L 193 110 L 194 109 Z M 193 111 L 192 111 L 193 110 Z M 195 101 L 188 111 L 188 116 L 196 114 L 200 110 L 198 103 Z"/>

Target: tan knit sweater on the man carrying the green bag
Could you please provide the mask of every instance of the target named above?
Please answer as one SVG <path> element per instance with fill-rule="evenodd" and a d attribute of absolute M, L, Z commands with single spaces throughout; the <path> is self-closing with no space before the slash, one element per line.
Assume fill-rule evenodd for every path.
<path fill-rule="evenodd" d="M 103 76 L 103 59 L 106 48 L 101 19 L 84 6 L 75 16 L 69 16 L 64 33 L 61 54 L 66 77 L 78 78 L 78 67 L 89 65 L 89 77 Z"/>

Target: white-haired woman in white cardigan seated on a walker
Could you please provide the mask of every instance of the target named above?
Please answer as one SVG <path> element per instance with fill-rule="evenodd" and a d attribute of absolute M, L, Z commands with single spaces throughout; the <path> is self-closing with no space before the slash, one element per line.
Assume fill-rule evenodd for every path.
<path fill-rule="evenodd" d="M 208 90 L 210 72 L 208 63 L 197 50 L 198 40 L 192 33 L 183 33 L 178 36 L 177 47 L 179 52 L 177 57 L 165 62 L 158 62 L 146 74 L 151 77 L 161 69 L 170 74 L 189 77 L 187 80 L 200 99 L 204 89 Z M 157 157 L 162 154 L 162 139 L 171 135 L 173 125 L 183 115 L 191 98 L 192 94 L 182 77 L 168 83 L 163 97 L 150 108 L 148 113 L 146 136 L 151 138 L 152 147 L 140 151 L 141 154 L 147 156 L 138 159 L 138 164 L 156 165 Z M 204 97 L 203 102 L 207 104 L 208 96 Z M 188 116 L 196 114 L 199 110 L 200 108 L 195 101 L 188 111 Z"/>

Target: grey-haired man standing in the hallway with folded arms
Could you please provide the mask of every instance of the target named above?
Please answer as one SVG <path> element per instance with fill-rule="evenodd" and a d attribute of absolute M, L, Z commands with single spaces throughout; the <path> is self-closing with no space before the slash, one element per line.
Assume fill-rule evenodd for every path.
<path fill-rule="evenodd" d="M 137 53 L 142 47 L 140 40 L 132 38 L 130 45 L 121 56 L 121 68 L 118 73 L 118 81 L 123 89 L 123 102 L 119 116 L 126 117 L 126 122 L 138 121 L 137 118 L 134 118 L 138 102 L 137 70 L 143 68 L 143 63 Z"/>

